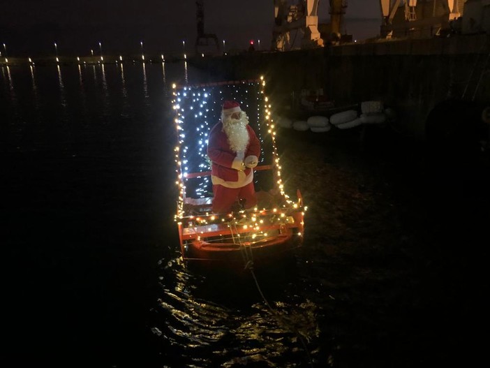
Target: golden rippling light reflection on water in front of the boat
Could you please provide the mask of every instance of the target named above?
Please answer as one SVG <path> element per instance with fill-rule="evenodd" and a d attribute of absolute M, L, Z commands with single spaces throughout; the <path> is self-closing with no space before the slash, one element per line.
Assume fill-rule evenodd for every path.
<path fill-rule="evenodd" d="M 318 307 L 289 290 L 291 275 L 194 273 L 180 258 L 161 266 L 163 293 L 151 330 L 178 347 L 182 366 L 311 364 Z"/>

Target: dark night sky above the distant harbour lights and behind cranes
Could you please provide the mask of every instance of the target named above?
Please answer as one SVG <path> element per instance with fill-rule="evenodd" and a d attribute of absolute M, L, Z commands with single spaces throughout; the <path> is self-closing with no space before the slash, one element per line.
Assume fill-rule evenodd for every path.
<path fill-rule="evenodd" d="M 99 42 L 103 52 L 137 53 L 141 41 L 144 52 L 184 47 L 190 52 L 197 34 L 194 0 L 0 0 L 0 5 L 0 43 L 11 57 L 51 54 L 55 42 L 59 54 L 89 54 L 99 50 Z M 205 0 L 204 12 L 205 32 L 224 40 L 225 49 L 244 50 L 251 39 L 255 45 L 260 40 L 261 50 L 270 49 L 273 0 Z M 328 22 L 328 12 L 328 1 L 320 1 L 320 22 Z M 369 19 L 364 26 L 362 20 Z M 355 39 L 376 36 L 379 1 L 348 1 L 346 22 Z"/>

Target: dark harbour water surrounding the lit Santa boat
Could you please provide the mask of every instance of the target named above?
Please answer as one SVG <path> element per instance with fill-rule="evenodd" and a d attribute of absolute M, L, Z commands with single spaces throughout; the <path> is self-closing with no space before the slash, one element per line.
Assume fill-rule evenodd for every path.
<path fill-rule="evenodd" d="M 183 64 L 3 67 L 3 349 L 27 367 L 473 365 L 487 182 L 390 131 L 279 132 L 305 242 L 235 275 L 179 258 L 170 83 Z"/>

